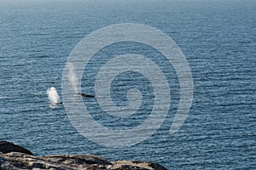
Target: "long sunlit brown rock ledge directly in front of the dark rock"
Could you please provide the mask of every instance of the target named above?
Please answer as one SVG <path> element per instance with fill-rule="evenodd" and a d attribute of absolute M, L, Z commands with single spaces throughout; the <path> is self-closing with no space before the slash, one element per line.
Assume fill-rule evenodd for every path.
<path fill-rule="evenodd" d="M 102 157 L 91 155 L 30 156 L 18 152 L 0 154 L 0 169 L 3 170 L 36 168 L 56 170 L 104 169 L 107 165 L 111 165 L 111 162 Z"/>

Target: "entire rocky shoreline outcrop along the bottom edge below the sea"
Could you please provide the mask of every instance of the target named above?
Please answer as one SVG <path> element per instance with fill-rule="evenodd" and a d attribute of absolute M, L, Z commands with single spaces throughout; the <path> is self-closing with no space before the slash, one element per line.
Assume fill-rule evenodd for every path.
<path fill-rule="evenodd" d="M 13 145 L 15 147 L 17 146 L 15 144 Z M 1 143 L 0 148 L 4 148 L 1 146 Z M 23 150 L 18 151 L 20 152 L 6 153 L 8 152 L 6 150 L 4 153 L 2 153 L 3 151 L 0 152 L 1 170 L 166 170 L 165 167 L 148 161 L 108 161 L 100 156 L 93 155 L 32 156 L 32 153 L 29 150 L 28 154 L 24 153 Z"/>

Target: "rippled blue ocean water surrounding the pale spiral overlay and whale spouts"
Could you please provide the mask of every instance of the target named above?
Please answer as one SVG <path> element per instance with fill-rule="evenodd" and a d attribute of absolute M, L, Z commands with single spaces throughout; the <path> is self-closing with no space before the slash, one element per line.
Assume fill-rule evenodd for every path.
<path fill-rule="evenodd" d="M 194 99 L 185 123 L 170 135 L 179 85 L 172 66 L 162 65 L 172 90 L 166 121 L 142 143 L 113 149 L 84 138 L 63 106 L 49 107 L 46 91 L 55 86 L 61 94 L 65 62 L 79 41 L 92 31 L 118 23 L 153 26 L 172 37 L 189 62 Z M 37 156 L 96 154 L 109 160 L 155 161 L 168 169 L 256 168 L 253 0 L 0 1 L 0 48 L 1 140 L 20 144 Z M 128 52 L 160 55 L 146 48 L 127 42 L 102 49 L 85 68 L 84 92 L 95 94 L 96 71 L 110 56 Z M 158 59 L 162 58 L 155 58 L 155 63 L 165 61 Z M 150 113 L 152 86 L 138 73 L 116 77 L 113 102 L 127 105 L 129 88 L 144 94 L 138 116 L 133 116 L 132 122 L 110 120 L 103 124 L 136 127 Z M 101 121 L 96 99 L 84 99 L 84 105 Z"/>

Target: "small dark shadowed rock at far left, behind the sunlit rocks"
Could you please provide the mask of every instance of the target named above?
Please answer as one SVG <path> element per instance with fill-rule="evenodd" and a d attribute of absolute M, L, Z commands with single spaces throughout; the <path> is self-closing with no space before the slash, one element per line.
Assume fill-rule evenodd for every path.
<path fill-rule="evenodd" d="M 7 141 L 0 141 L 0 152 L 2 152 L 3 154 L 9 152 L 20 152 L 28 155 L 33 155 L 30 150 L 26 150 L 25 148 L 22 148 L 19 145 Z"/>

